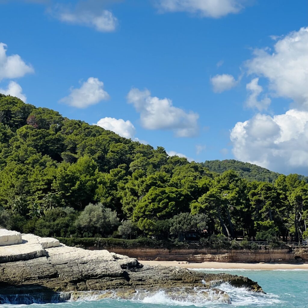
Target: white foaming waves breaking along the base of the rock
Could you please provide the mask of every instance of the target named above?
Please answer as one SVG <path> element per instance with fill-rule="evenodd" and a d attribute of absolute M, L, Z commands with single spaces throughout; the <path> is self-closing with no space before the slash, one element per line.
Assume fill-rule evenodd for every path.
<path fill-rule="evenodd" d="M 92 302 L 100 302 L 100 303 L 110 303 L 118 302 L 117 305 L 119 306 L 120 302 L 131 303 L 132 307 L 137 307 L 140 304 L 147 304 L 147 306 L 197 306 L 197 307 L 240 307 L 240 306 L 261 306 L 266 307 L 273 304 L 280 303 L 281 301 L 278 299 L 278 296 L 273 294 L 263 294 L 263 293 L 255 293 L 246 290 L 245 288 L 237 288 L 231 286 L 229 283 L 222 283 L 217 286 L 220 290 L 225 291 L 226 294 L 217 294 L 215 290 L 207 290 L 207 289 L 198 289 L 192 294 L 186 294 L 183 292 L 181 294 L 180 289 L 174 289 L 174 292 L 168 292 L 166 290 L 157 290 L 156 292 L 147 292 L 147 291 L 140 291 L 137 292 L 132 299 L 130 300 L 123 300 L 119 299 L 116 296 L 116 292 L 114 296 L 107 299 L 102 299 L 106 292 L 111 293 L 112 291 L 102 291 L 99 293 L 89 292 L 74 292 L 74 296 L 70 294 L 71 292 L 63 292 L 59 293 L 58 295 L 53 298 L 53 303 L 58 303 L 58 305 L 65 304 L 67 307 L 68 304 L 86 304 L 87 306 Z M 206 296 L 205 296 L 206 294 Z M 3 300 L 3 298 L 2 298 Z M 231 302 L 229 301 L 231 300 Z M 23 296 L 16 296 L 7 298 L 6 301 L 2 302 L 6 305 L 0 305 L 2 308 L 11 308 L 13 305 L 18 305 L 18 307 L 26 307 L 29 304 L 40 304 L 40 307 L 51 307 L 53 304 L 45 304 L 43 297 L 40 298 L 33 298 L 31 295 Z M 9 304 L 9 305 L 8 305 Z M 41 305 L 45 304 L 45 305 Z M 137 304 L 137 305 L 136 305 Z M 231 305 L 229 305 L 231 304 Z M 71 306 L 70 305 L 70 306 Z M 33 305 L 31 305 L 33 306 Z M 93 304 L 91 305 L 93 306 Z M 96 305 L 95 305 L 96 306 Z M 99 304 L 101 306 L 101 304 Z M 121 306 L 121 305 L 120 305 Z M 125 306 L 130 306 L 130 304 L 125 304 Z M 62 307 L 62 306 L 61 306 Z M 144 307 L 144 306 L 143 306 Z"/>

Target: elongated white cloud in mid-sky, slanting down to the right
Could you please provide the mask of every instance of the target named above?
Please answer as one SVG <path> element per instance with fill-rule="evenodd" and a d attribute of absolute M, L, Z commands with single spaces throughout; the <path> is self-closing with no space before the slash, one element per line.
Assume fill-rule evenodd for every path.
<path fill-rule="evenodd" d="M 198 132 L 199 115 L 174 107 L 171 99 L 159 99 L 151 96 L 149 90 L 133 88 L 128 93 L 127 100 L 140 113 L 141 125 L 146 129 L 172 130 L 177 137 L 191 137 Z"/>

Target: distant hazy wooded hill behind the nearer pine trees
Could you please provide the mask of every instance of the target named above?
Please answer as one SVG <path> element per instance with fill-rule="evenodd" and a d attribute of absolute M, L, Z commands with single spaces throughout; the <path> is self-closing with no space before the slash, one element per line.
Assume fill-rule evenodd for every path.
<path fill-rule="evenodd" d="M 227 160 L 206 160 L 204 166 L 210 171 L 223 173 L 227 170 L 235 170 L 239 175 L 249 181 L 264 181 L 274 183 L 280 173 L 270 171 L 260 166 L 244 163 L 242 161 L 227 159 Z M 308 182 L 308 177 L 299 176 L 302 180 Z"/>

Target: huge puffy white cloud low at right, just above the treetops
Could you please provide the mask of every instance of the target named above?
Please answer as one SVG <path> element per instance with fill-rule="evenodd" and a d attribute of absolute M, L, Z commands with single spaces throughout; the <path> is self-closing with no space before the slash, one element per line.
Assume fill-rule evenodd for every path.
<path fill-rule="evenodd" d="M 307 173 L 308 112 L 291 109 L 282 115 L 257 114 L 238 122 L 230 139 L 238 160 L 278 172 Z"/>

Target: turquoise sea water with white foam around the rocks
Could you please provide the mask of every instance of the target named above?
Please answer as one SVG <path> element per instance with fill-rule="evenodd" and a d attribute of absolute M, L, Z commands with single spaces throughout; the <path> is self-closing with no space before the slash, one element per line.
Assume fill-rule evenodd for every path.
<path fill-rule="evenodd" d="M 305 270 L 200 270 L 211 273 L 230 273 L 247 276 L 257 281 L 267 294 L 253 293 L 245 289 L 234 288 L 228 284 L 219 286 L 231 297 L 232 304 L 204 301 L 198 298 L 185 300 L 170 299 L 163 290 L 139 300 L 83 300 L 58 304 L 14 305 L 2 304 L 0 308 L 164 308 L 183 307 L 268 307 L 268 308 L 308 308 L 308 271 Z"/>

